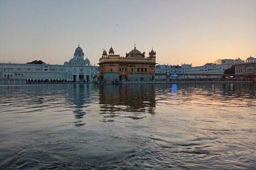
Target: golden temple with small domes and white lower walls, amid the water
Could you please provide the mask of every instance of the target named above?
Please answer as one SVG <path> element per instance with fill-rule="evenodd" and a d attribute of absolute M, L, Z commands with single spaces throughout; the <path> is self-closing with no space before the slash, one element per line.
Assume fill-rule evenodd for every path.
<path fill-rule="evenodd" d="M 126 56 L 116 55 L 111 47 L 108 54 L 103 51 L 99 59 L 99 81 L 149 81 L 155 78 L 156 52 L 149 56 L 141 53 L 136 46 Z"/>

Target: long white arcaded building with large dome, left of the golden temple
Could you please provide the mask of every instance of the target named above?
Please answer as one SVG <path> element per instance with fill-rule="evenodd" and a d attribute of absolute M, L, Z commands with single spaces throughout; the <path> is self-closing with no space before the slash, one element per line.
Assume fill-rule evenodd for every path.
<path fill-rule="evenodd" d="M 98 67 L 91 66 L 84 52 L 77 47 L 73 58 L 58 64 L 0 63 L 0 84 L 21 80 L 26 83 L 91 82 L 98 75 Z"/>

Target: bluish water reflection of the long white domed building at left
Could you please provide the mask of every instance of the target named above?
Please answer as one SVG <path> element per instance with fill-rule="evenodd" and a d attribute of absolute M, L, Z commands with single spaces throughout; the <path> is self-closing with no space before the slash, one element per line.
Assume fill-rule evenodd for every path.
<path fill-rule="evenodd" d="M 0 112 L 13 114 L 49 113 L 74 115 L 74 126 L 85 125 L 87 108 L 98 97 L 97 86 L 93 84 L 34 84 L 0 87 Z M 98 92 L 96 93 L 98 94 Z"/>

